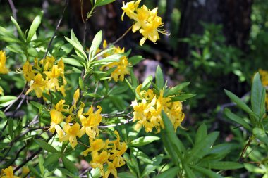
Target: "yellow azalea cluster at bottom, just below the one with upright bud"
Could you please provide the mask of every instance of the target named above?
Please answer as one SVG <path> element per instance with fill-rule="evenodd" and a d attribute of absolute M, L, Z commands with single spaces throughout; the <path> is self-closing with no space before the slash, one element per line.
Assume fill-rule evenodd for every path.
<path fill-rule="evenodd" d="M 83 152 L 83 155 L 87 155 L 91 152 L 92 161 L 90 165 L 93 168 L 99 168 L 103 177 L 108 178 L 109 174 L 113 174 L 114 177 L 117 177 L 116 168 L 125 165 L 125 160 L 122 157 L 123 153 L 126 152 L 127 146 L 125 142 L 120 142 L 120 137 L 117 131 L 114 131 L 116 134 L 115 141 L 103 141 L 102 139 L 90 139 L 90 148 L 87 148 Z M 104 173 L 104 164 L 107 164 L 107 170 Z"/>

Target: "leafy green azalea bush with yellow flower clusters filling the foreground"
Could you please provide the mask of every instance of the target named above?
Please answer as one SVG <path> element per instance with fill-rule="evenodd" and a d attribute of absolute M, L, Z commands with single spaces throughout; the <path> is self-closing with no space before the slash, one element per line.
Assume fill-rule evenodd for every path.
<path fill-rule="evenodd" d="M 90 2 L 86 20 L 113 0 Z M 190 82 L 169 87 L 160 66 L 154 77 L 135 76 L 142 56 L 117 42 L 130 31 L 140 33 L 140 46 L 169 35 L 158 8 L 142 3 L 123 2 L 121 20 L 133 25 L 116 42 L 103 39 L 101 29 L 90 46 L 73 30 L 56 37 L 58 27 L 52 37 L 39 37 L 42 12 L 27 30 L 11 17 L 18 37 L 0 27 L 6 45 L 0 51 L 0 177 L 224 177 L 225 170 L 243 167 L 244 159 L 224 160 L 233 145 L 219 144 L 219 132 L 209 133 L 205 124 L 182 139 L 185 101 L 195 96 L 184 92 Z M 253 80 L 252 110 L 226 94 L 250 120 L 230 110 L 226 115 L 252 132 L 250 144 L 267 144 L 260 76 Z"/>

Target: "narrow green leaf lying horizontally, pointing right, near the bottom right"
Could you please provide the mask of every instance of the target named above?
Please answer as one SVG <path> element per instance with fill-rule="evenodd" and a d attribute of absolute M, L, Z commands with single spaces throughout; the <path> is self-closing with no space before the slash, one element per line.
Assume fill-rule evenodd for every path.
<path fill-rule="evenodd" d="M 237 170 L 243 167 L 242 164 L 231 161 L 213 161 L 209 160 L 205 163 L 200 163 L 199 166 L 214 170 Z"/>

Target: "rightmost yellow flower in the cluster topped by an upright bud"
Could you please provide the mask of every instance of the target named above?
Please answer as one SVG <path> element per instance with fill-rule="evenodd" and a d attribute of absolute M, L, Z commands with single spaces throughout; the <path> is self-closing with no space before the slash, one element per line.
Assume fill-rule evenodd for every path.
<path fill-rule="evenodd" d="M 82 124 L 82 130 L 90 137 L 90 139 L 95 139 L 99 135 L 99 123 L 102 121 L 102 107 L 99 108 L 95 113 L 93 113 L 93 107 L 91 106 L 87 113 L 80 114 L 80 121 Z M 85 117 L 87 116 L 87 117 Z"/>

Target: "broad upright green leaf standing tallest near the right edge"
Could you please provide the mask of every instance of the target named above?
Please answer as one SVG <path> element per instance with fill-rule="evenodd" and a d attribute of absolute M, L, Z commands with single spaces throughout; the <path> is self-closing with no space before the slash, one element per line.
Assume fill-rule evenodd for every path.
<path fill-rule="evenodd" d="M 253 78 L 250 101 L 253 112 L 261 119 L 265 113 L 265 88 L 262 86 L 259 73 Z"/>

